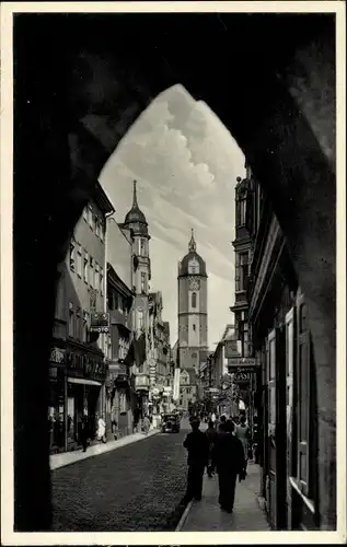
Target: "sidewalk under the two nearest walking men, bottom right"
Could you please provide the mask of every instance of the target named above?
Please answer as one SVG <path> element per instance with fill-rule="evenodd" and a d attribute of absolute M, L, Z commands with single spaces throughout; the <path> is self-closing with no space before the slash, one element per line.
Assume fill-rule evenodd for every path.
<path fill-rule="evenodd" d="M 257 502 L 259 467 L 248 464 L 245 480 L 238 482 L 232 514 L 218 503 L 218 476 L 204 476 L 203 500 L 188 503 L 176 532 L 267 532 L 270 527 Z"/>

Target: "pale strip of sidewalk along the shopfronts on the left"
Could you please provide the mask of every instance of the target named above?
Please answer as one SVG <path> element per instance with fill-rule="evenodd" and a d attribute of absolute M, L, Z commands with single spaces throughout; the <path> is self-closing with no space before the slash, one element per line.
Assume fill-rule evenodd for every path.
<path fill-rule="evenodd" d="M 100 454 L 120 449 L 122 446 L 136 443 L 137 441 L 143 441 L 144 439 L 155 435 L 157 433 L 159 433 L 159 429 L 152 429 L 147 435 L 144 433 L 132 433 L 131 435 L 123 437 L 117 441 L 108 441 L 105 444 L 100 443 L 95 444 L 94 446 L 89 446 L 86 449 L 86 452 L 77 450 L 73 452 L 62 452 L 61 454 L 51 454 L 49 456 L 50 470 L 58 469 L 59 467 L 65 467 L 66 465 L 74 464 L 76 462 L 86 459 L 88 457 L 99 456 Z"/>

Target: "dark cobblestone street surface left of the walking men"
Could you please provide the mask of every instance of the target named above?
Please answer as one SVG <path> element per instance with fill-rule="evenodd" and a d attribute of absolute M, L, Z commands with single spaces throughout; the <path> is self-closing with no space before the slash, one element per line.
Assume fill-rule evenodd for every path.
<path fill-rule="evenodd" d="M 174 531 L 184 511 L 185 434 L 157 434 L 54 470 L 54 529 Z"/>

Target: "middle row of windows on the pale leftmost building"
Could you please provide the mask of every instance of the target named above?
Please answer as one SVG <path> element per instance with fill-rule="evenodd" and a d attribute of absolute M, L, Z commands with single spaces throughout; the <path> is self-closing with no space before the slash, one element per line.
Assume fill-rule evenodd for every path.
<path fill-rule="evenodd" d="M 92 289 L 104 294 L 104 268 L 82 246 L 74 242 L 70 242 L 70 270 L 76 272 L 84 282 L 90 284 Z"/>

